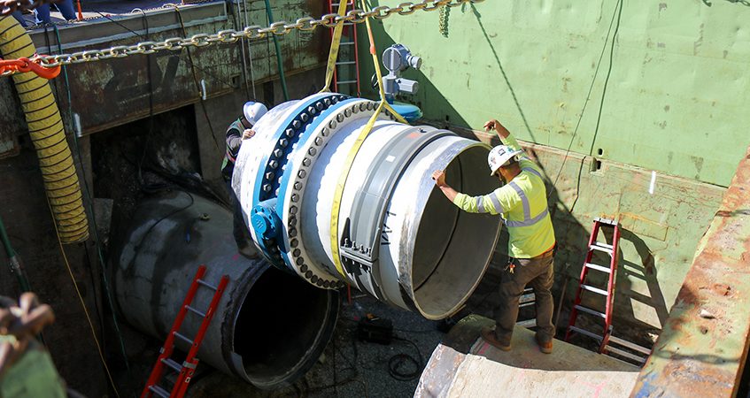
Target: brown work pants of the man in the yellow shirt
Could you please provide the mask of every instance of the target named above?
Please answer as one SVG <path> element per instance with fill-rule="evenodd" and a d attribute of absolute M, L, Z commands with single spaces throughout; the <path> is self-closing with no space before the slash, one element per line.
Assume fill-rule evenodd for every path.
<path fill-rule="evenodd" d="M 513 328 L 518 319 L 518 302 L 527 285 L 534 289 L 537 309 L 537 335 L 540 341 L 552 341 L 554 303 L 550 289 L 553 284 L 553 256 L 544 258 L 514 258 L 500 280 L 500 303 L 495 309 L 495 338 L 510 345 Z M 513 272 L 511 272 L 513 270 Z"/>

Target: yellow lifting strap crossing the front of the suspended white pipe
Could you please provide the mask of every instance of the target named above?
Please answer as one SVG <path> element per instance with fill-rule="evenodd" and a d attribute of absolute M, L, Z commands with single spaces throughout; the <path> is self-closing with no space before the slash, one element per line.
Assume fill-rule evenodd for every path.
<path fill-rule="evenodd" d="M 362 9 L 367 11 L 367 4 L 365 4 L 365 0 L 361 1 Z M 347 155 L 346 161 L 344 162 L 344 168 L 342 169 L 341 174 L 338 176 L 336 191 L 333 195 L 330 223 L 331 256 L 333 257 L 333 264 L 336 265 L 336 271 L 338 271 L 338 273 L 340 273 L 344 278 L 346 278 L 346 273 L 344 272 L 344 267 L 341 264 L 341 255 L 338 251 L 338 218 L 339 210 L 341 209 L 341 197 L 344 195 L 344 185 L 346 185 L 346 179 L 349 178 L 349 172 L 352 170 L 352 163 L 354 163 L 354 158 L 357 157 L 357 154 L 360 152 L 362 143 L 365 142 L 367 136 L 370 134 L 370 132 L 372 132 L 373 127 L 375 126 L 375 121 L 377 121 L 377 117 L 378 115 L 380 115 L 381 111 L 390 111 L 390 113 L 393 114 L 393 116 L 399 122 L 408 124 L 408 122 L 406 122 L 406 119 L 402 118 L 401 115 L 399 115 L 396 111 L 393 111 L 393 108 L 391 108 L 390 104 L 385 100 L 385 91 L 383 89 L 383 73 L 380 72 L 380 63 L 377 59 L 375 40 L 373 40 L 373 31 L 370 27 L 370 19 L 365 19 L 365 23 L 367 24 L 367 36 L 370 40 L 370 54 L 373 56 L 373 65 L 375 65 L 377 84 L 380 90 L 380 104 L 375 110 L 375 113 L 373 113 L 373 116 L 370 117 L 370 119 L 367 121 L 367 125 L 362 128 L 362 131 L 357 137 L 357 140 L 354 142 L 352 149 L 349 150 L 349 154 Z"/>

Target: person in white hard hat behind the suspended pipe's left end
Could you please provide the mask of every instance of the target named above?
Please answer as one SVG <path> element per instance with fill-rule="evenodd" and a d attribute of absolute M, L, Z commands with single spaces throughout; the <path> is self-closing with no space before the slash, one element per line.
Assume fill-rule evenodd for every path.
<path fill-rule="evenodd" d="M 267 111 L 266 105 L 262 103 L 248 102 L 244 104 L 243 114 L 227 128 L 227 149 L 224 153 L 224 161 L 221 164 L 221 175 L 227 181 L 229 198 L 232 202 L 232 211 L 234 212 L 232 234 L 237 243 L 237 250 L 239 250 L 240 254 L 248 258 L 257 258 L 258 252 L 250 242 L 250 233 L 247 226 L 244 225 L 242 206 L 235 194 L 235 190 L 232 189 L 232 173 L 235 171 L 235 160 L 240 151 L 240 146 L 243 142 L 255 136 L 255 130 L 252 129 L 252 126 L 255 126 Z"/>

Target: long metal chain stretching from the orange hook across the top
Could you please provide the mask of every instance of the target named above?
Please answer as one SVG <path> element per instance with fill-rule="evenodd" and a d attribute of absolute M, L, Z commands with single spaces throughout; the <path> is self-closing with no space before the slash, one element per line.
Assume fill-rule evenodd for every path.
<path fill-rule="evenodd" d="M 482 3 L 484 0 L 423 0 L 421 3 L 401 3 L 397 7 L 388 7 L 381 5 L 371 11 L 352 10 L 344 16 L 336 13 L 326 14 L 321 19 L 310 17 L 297 19 L 294 23 L 286 21 L 274 22 L 268 27 L 251 26 L 243 30 L 227 29 L 215 34 L 194 34 L 191 37 L 173 37 L 162 42 L 139 42 L 129 46 L 114 46 L 105 50 L 85 50 L 77 51 L 71 54 L 58 54 L 54 56 L 37 55 L 31 58 L 32 62 L 43 65 L 44 67 L 56 67 L 61 65 L 73 65 L 86 62 L 101 61 L 110 58 L 129 57 L 136 54 L 153 54 L 157 51 L 172 50 L 178 51 L 188 47 L 205 47 L 216 43 L 232 43 L 240 39 L 258 40 L 275 34 L 282 36 L 290 34 L 291 31 L 300 30 L 311 32 L 316 27 L 336 27 L 337 24 L 354 23 L 360 24 L 367 18 L 386 19 L 390 16 L 410 15 L 416 11 L 435 11 L 441 7 L 458 7 L 463 4 Z M 0 76 L 7 76 L 16 73 L 15 71 L 6 71 L 0 73 Z"/>

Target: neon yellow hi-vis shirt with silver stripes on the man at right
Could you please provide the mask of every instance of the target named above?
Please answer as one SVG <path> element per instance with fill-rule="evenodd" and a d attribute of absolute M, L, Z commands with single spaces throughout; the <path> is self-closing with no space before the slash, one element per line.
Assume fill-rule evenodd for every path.
<path fill-rule="evenodd" d="M 502 140 L 513 149 L 522 149 L 513 135 Z M 542 173 L 529 157 L 520 159 L 522 172 L 505 186 L 487 195 L 456 195 L 453 203 L 471 213 L 500 214 L 509 235 L 508 255 L 531 258 L 552 249 L 555 243 Z"/>

